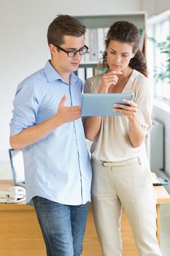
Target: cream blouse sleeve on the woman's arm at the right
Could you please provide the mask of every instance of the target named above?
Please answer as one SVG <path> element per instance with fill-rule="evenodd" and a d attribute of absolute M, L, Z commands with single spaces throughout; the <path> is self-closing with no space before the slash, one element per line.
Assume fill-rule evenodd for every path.
<path fill-rule="evenodd" d="M 147 78 L 142 78 L 139 81 L 139 87 L 136 91 L 136 96 L 134 102 L 138 105 L 138 113 L 141 121 L 141 125 L 144 132 L 149 132 L 152 129 L 152 97 L 149 80 Z"/>

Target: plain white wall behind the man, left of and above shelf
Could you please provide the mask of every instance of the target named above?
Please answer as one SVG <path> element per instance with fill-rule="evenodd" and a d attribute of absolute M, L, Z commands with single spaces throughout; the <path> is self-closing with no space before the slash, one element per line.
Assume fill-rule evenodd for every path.
<path fill-rule="evenodd" d="M 139 7 L 136 0 L 0 0 L 0 161 L 8 160 L 15 89 L 50 59 L 46 34 L 55 16 L 107 15 L 135 12 Z"/>

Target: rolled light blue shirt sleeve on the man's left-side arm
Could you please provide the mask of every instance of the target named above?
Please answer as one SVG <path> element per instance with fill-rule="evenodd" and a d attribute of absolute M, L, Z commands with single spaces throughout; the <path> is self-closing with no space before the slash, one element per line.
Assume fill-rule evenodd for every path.
<path fill-rule="evenodd" d="M 23 83 L 18 86 L 13 102 L 10 136 L 17 135 L 23 129 L 36 124 L 39 103 L 36 99 L 34 85 Z"/>

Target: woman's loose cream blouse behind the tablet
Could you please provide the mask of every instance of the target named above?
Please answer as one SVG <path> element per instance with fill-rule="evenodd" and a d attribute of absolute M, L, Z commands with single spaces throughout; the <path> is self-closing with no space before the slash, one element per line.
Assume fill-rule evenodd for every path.
<path fill-rule="evenodd" d="M 84 92 L 96 94 L 101 84 L 101 76 L 88 78 L 85 82 Z M 147 134 L 152 128 L 149 80 L 134 69 L 123 92 L 134 94 L 134 102 L 138 105 L 141 125 Z M 147 157 L 145 143 L 138 148 L 131 145 L 128 118 L 125 116 L 102 116 L 101 129 L 98 137 L 93 141 L 90 152 L 93 158 L 108 162 Z"/>

